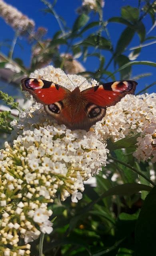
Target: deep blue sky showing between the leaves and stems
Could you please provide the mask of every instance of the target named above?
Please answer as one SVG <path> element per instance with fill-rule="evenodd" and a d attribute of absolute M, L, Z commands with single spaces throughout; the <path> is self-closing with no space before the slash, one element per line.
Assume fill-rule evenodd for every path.
<path fill-rule="evenodd" d="M 29 18 L 32 18 L 35 23 L 36 23 L 36 28 L 43 26 L 48 29 L 48 33 L 46 34 L 46 38 L 52 38 L 52 36 L 55 34 L 56 31 L 59 30 L 58 23 L 54 16 L 51 14 L 45 14 L 42 12 L 42 10 L 45 8 L 44 4 L 40 0 L 6 0 L 8 4 L 11 4 L 12 6 L 15 6 L 20 10 L 22 13 L 27 15 Z M 52 2 L 49 0 L 49 2 Z M 55 10 L 56 12 L 66 20 L 66 24 L 69 28 L 72 27 L 73 22 L 75 21 L 76 17 L 78 14 L 76 14 L 76 9 L 81 6 L 81 0 L 58 0 Z M 104 6 L 104 20 L 108 20 L 108 18 L 114 17 L 114 16 L 120 16 L 121 12 L 121 7 L 126 6 L 126 5 L 131 5 L 137 7 L 138 1 L 137 0 L 106 0 L 105 6 Z M 97 20 L 97 16 L 92 13 L 90 22 Z M 148 31 L 151 26 L 152 22 L 150 19 L 150 16 L 146 16 L 143 20 L 145 26 L 146 26 L 146 31 Z M 14 31 L 10 26 L 8 26 L 2 18 L 0 18 L 0 28 L 1 28 L 1 33 L 0 33 L 0 42 L 9 39 L 12 40 L 14 37 Z M 112 43 L 114 46 L 116 46 L 116 42 L 124 30 L 125 26 L 122 24 L 117 24 L 117 23 L 110 23 L 108 24 L 108 30 L 110 33 L 110 37 L 112 39 Z M 156 32 L 156 30 L 155 30 Z M 106 34 L 103 34 L 103 36 L 106 37 Z M 148 36 L 154 36 L 154 30 Z M 150 42 L 150 41 L 148 41 Z M 20 47 L 22 45 L 22 48 Z M 130 43 L 130 47 L 138 46 L 139 45 L 139 38 L 138 35 L 136 34 Z M 8 49 L 6 47 L 1 48 L 2 52 L 7 54 Z M 64 48 L 61 49 L 62 51 L 65 50 Z M 156 48 L 155 44 L 152 44 L 150 46 L 142 48 L 142 52 L 140 56 L 137 58 L 137 61 L 141 60 L 148 60 L 154 62 L 156 59 Z M 130 51 L 128 52 L 128 54 Z M 109 61 L 111 55 L 110 52 L 105 51 L 104 52 L 105 58 L 106 58 L 106 63 Z M 20 38 L 18 39 L 18 44 L 15 47 L 14 50 L 14 58 L 18 57 L 21 58 L 24 61 L 24 64 L 26 66 L 29 66 L 30 64 L 30 46 L 27 44 L 26 39 Z M 80 59 L 81 61 L 81 59 Z M 98 68 L 99 62 L 97 58 L 92 58 L 88 59 L 85 63 L 82 63 L 86 70 L 90 71 L 95 71 Z M 113 64 L 110 65 L 110 71 L 114 70 Z M 133 76 L 137 76 L 138 74 L 142 73 L 152 73 L 152 76 L 142 78 L 138 80 L 138 88 L 137 91 L 140 91 L 144 86 L 147 86 L 149 84 L 152 84 L 154 80 L 154 72 L 155 68 L 151 66 L 143 66 L 143 65 L 137 65 L 133 66 Z M 116 79 L 118 80 L 119 74 L 116 74 Z M 156 86 L 155 86 L 156 87 Z M 148 90 L 149 93 L 151 92 L 156 92 L 156 89 L 154 87 L 150 88 Z"/>

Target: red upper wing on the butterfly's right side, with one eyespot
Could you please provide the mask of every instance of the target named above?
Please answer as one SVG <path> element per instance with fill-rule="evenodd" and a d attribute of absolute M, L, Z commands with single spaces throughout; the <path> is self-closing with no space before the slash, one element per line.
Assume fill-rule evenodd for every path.
<path fill-rule="evenodd" d="M 83 97 L 90 103 L 101 107 L 109 107 L 119 102 L 126 94 L 134 94 L 137 82 L 118 81 L 101 84 L 82 91 Z"/>

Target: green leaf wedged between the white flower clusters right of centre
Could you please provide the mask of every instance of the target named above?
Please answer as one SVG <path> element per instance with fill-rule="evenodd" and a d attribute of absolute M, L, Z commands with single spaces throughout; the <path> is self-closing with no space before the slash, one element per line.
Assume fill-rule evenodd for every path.
<path fill-rule="evenodd" d="M 121 148 L 136 148 L 136 142 L 137 138 L 140 136 L 140 133 L 133 134 L 132 136 L 127 136 L 121 140 L 118 140 L 116 142 L 112 142 L 111 140 L 108 140 L 107 142 L 107 148 L 112 151 L 116 149 L 121 149 Z"/>

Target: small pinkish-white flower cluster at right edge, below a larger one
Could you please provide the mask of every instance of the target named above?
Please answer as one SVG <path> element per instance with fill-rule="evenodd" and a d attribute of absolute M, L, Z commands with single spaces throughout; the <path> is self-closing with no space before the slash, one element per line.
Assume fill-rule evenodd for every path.
<path fill-rule="evenodd" d="M 144 126 L 141 136 L 137 139 L 137 150 L 134 152 L 138 161 L 147 161 L 151 158 L 153 163 L 156 162 L 156 122 Z"/>

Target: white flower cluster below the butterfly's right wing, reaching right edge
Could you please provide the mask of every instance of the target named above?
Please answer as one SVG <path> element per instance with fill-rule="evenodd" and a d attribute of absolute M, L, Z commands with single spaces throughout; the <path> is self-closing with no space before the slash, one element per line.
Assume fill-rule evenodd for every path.
<path fill-rule="evenodd" d="M 107 108 L 102 122 L 96 124 L 96 132 L 102 139 L 113 142 L 128 135 L 142 132 L 147 124 L 156 122 L 156 94 L 126 95 L 115 106 Z"/>

